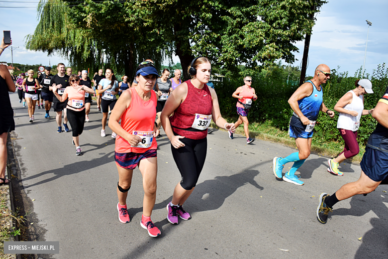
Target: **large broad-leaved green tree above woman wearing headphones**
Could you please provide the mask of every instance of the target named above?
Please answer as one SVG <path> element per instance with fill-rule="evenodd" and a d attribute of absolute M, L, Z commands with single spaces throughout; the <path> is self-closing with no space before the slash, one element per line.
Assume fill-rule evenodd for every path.
<path fill-rule="evenodd" d="M 160 29 L 182 64 L 185 78 L 194 55 L 208 57 L 228 74 L 238 65 L 255 68 L 275 60 L 295 60 L 296 41 L 311 31 L 309 14 L 319 11 L 321 0 L 153 0 L 137 5 L 150 14 L 144 19 Z M 316 8 L 312 9 L 314 5 Z M 249 70 L 248 70 L 249 71 Z"/>

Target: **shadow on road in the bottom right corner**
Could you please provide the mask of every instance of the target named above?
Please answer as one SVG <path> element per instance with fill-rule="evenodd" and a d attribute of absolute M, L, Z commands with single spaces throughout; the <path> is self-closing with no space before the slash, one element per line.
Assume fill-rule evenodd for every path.
<path fill-rule="evenodd" d="M 382 198 L 380 195 L 383 195 Z M 368 200 L 374 202 L 368 202 Z M 334 215 L 350 215 L 360 217 L 370 211 L 373 211 L 378 218 L 371 219 L 373 229 L 369 230 L 362 237 L 362 244 L 357 250 L 355 259 L 365 258 L 388 258 L 388 209 L 383 201 L 388 202 L 388 195 L 382 194 L 378 189 L 375 192 L 369 193 L 368 196 L 356 195 L 351 198 L 350 209 L 333 210 Z M 362 235 L 360 234 L 360 237 Z M 355 239 L 359 237 L 354 237 Z M 384 256 L 385 255 L 385 256 Z"/>

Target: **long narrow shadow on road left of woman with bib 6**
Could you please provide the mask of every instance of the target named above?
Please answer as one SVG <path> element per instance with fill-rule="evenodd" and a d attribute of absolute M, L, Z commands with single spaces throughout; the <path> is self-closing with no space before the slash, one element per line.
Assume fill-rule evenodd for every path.
<path fill-rule="evenodd" d="M 109 155 L 111 155 L 111 154 L 113 154 L 113 155 L 109 157 Z M 34 183 L 34 184 L 24 186 L 24 189 L 30 188 L 32 186 L 40 185 L 42 183 L 48 183 L 48 182 L 54 181 L 62 176 L 80 173 L 80 172 L 83 172 L 85 170 L 89 170 L 89 169 L 95 168 L 97 166 L 109 163 L 111 161 L 114 161 L 114 151 L 107 153 L 106 155 L 104 155 L 102 157 L 94 158 L 90 161 L 85 161 L 85 160 L 78 161 L 75 163 L 65 165 L 62 168 L 44 171 L 44 172 L 35 174 L 33 176 L 23 178 L 22 180 L 25 181 L 25 180 L 35 179 L 35 178 L 38 178 L 40 176 L 44 176 L 46 174 L 54 174 L 54 176 L 52 176 L 51 178 L 42 180 L 40 182 Z M 81 169 L 81 168 L 84 168 L 84 169 Z"/>

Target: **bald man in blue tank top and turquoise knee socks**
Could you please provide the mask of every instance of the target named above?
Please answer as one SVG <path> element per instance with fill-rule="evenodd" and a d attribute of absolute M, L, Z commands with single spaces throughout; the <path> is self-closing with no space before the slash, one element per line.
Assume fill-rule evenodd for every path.
<path fill-rule="evenodd" d="M 315 69 L 314 77 L 302 84 L 292 94 L 289 104 L 293 110 L 290 120 L 290 137 L 295 138 L 296 146 L 299 152 L 289 156 L 275 157 L 274 173 L 277 178 L 282 178 L 282 170 L 286 163 L 293 162 L 289 172 L 283 176 L 283 180 L 296 185 L 303 185 L 296 176 L 296 170 L 304 163 L 310 155 L 311 138 L 319 111 L 326 113 L 330 118 L 334 117 L 334 112 L 327 109 L 323 103 L 323 89 L 321 84 L 326 83 L 330 78 L 330 68 L 325 64 L 320 64 Z"/>

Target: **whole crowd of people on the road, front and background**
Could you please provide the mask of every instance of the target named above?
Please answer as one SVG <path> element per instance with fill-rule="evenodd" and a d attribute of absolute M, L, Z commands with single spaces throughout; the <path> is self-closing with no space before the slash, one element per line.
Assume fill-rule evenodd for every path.
<path fill-rule="evenodd" d="M 7 45 L 1 45 L 2 49 L 5 47 Z M 179 218 L 191 219 L 190 213 L 185 211 L 183 205 L 194 191 L 205 163 L 210 122 L 213 121 L 217 127 L 225 129 L 230 139 L 233 139 L 235 129 L 243 124 L 247 144 L 254 141 L 249 136 L 247 119 L 253 102 L 257 100 L 255 89 L 251 87 L 252 78 L 249 76 L 243 78 L 244 85 L 231 93 L 232 97 L 237 99 L 238 120 L 235 123 L 228 123 L 221 116 L 216 91 L 209 82 L 211 64 L 205 57 L 196 57 L 192 61 L 188 71 L 192 79 L 185 82 L 181 80 L 180 70 L 174 71 L 174 77 L 169 78 L 170 71 L 164 69 L 160 73 L 150 59 L 139 64 L 132 83 L 128 82 L 128 76 L 123 76 L 122 81 L 118 82 L 110 68 L 105 71 L 100 69 L 93 79 L 88 77 L 86 70 L 73 74 L 72 69 L 66 69 L 63 63 L 58 64 L 57 70 L 58 73 L 52 75 L 51 68 L 46 67 L 44 73 L 38 74 L 38 77 L 34 77 L 34 71 L 29 70 L 27 75 L 21 74 L 17 79 L 19 103 L 23 102 L 23 106 L 27 104 L 29 122 L 33 123 L 35 120 L 36 106 L 38 109 L 46 110 L 44 116 L 46 119 L 50 118 L 52 107 L 56 113 L 57 132 L 62 132 L 63 115 L 65 131 L 70 130 L 67 122 L 72 129 L 72 143 L 76 146 L 76 155 L 82 155 L 79 137 L 85 122 L 89 121 L 92 96 L 96 96 L 97 110 L 102 113 L 100 135 L 105 136 L 105 127 L 108 123 L 113 131 L 111 137 L 116 138 L 114 158 L 118 171 L 116 187 L 118 219 L 122 223 L 131 221 L 126 198 L 132 184 L 133 169 L 139 167 L 144 188 L 140 225 L 147 229 L 151 237 L 161 234 L 151 220 L 157 191 L 156 138 L 161 136 L 161 127 L 171 142 L 171 152 L 182 176 L 182 180 L 175 187 L 172 186 L 172 200 L 167 204 L 167 219 L 171 224 L 178 224 Z M 330 73 L 327 65 L 318 65 L 313 78 L 292 94 L 289 99 L 293 110 L 289 134 L 295 139 L 298 151 L 273 159 L 273 172 L 276 178 L 295 185 L 303 185 L 295 172 L 310 154 L 318 114 L 323 112 L 333 118 L 336 111 L 339 113 L 337 128 L 345 141 L 345 147 L 338 157 L 328 160 L 327 170 L 333 175 L 341 176 L 343 172 L 338 169 L 339 163 L 359 153 L 357 130 L 362 127 L 361 116 L 373 116 L 378 121 L 361 161 L 360 179 L 342 186 L 331 196 L 326 193 L 320 195 L 316 216 L 323 224 L 327 222 L 328 213 L 338 201 L 356 194 L 370 193 L 388 175 L 388 89 L 374 109 L 365 110 L 364 95 L 373 94 L 372 83 L 368 79 L 357 80 L 355 88 L 347 92 L 332 111 L 323 103 L 322 87 L 322 84 L 330 78 Z M 9 79 L 9 72 L 5 73 L 1 69 L 0 75 L 2 92 L 0 96 L 3 98 L 8 91 L 14 92 L 15 85 L 10 83 L 12 80 Z M 8 100 L 0 101 L 2 105 L 0 109 L 11 111 L 8 94 L 6 97 Z M 6 135 L 14 129 L 11 113 L 0 115 L 0 122 L 1 150 L 5 150 L 6 153 L 4 147 Z M 1 158 L 2 163 L 3 159 L 4 156 Z M 285 164 L 289 162 L 293 162 L 291 169 L 283 173 Z M 5 167 L 2 164 L 0 185 L 8 182 L 4 172 Z"/>

